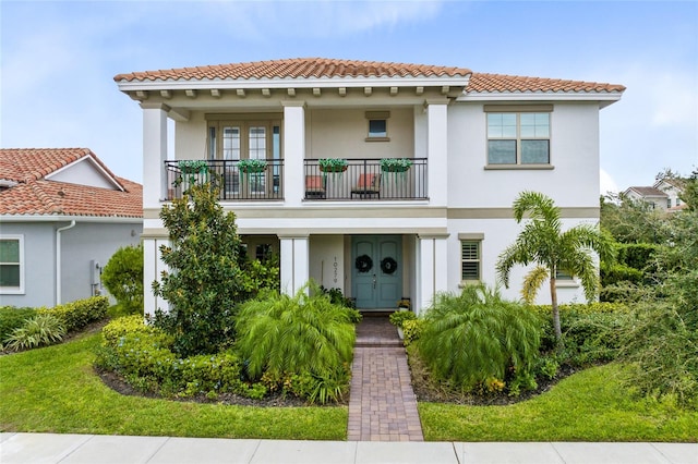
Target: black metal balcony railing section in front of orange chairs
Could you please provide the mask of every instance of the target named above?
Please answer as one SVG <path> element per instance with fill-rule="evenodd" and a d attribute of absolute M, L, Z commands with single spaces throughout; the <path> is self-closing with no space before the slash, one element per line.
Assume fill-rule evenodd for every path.
<path fill-rule="evenodd" d="M 409 167 L 396 172 L 399 168 L 386 170 L 380 159 L 351 158 L 344 169 L 328 172 L 318 159 L 306 159 L 305 199 L 426 199 L 426 158 L 409 161 Z"/>

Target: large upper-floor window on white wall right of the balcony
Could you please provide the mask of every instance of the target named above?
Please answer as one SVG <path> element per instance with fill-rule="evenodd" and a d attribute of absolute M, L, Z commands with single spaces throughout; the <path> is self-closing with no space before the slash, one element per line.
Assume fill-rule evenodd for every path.
<path fill-rule="evenodd" d="M 550 164 L 550 112 L 488 112 L 489 164 Z"/>

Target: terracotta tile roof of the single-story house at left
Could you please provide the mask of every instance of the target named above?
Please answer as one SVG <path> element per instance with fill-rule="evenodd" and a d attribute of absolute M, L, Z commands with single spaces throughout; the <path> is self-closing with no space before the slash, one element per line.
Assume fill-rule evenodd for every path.
<path fill-rule="evenodd" d="M 113 176 L 124 188 L 99 188 L 44 179 L 70 162 L 91 156 L 86 148 L 0 149 L 0 179 L 16 185 L 0 191 L 0 215 L 64 215 L 86 217 L 143 217 L 143 188 Z"/>

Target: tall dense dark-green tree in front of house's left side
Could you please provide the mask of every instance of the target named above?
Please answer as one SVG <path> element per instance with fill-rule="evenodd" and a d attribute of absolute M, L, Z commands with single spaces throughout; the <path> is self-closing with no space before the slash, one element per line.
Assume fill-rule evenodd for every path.
<path fill-rule="evenodd" d="M 205 183 L 163 207 L 160 219 L 169 230 L 170 245 L 160 246 L 169 271 L 153 291 L 170 308 L 157 310 L 155 325 L 174 337 L 182 356 L 215 353 L 232 343 L 234 307 L 246 293 L 234 213 L 224 213 L 218 187 Z"/>

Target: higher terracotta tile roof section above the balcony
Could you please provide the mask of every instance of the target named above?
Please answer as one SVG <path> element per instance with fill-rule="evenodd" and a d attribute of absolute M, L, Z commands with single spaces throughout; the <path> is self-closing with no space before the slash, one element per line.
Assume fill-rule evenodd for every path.
<path fill-rule="evenodd" d="M 466 77 L 471 71 L 464 68 L 425 64 L 384 63 L 378 61 L 333 60 L 326 58 L 296 58 L 254 61 L 213 66 L 180 68 L 145 71 L 115 76 L 116 82 L 190 81 L 190 80 L 272 80 L 317 77 Z"/>

